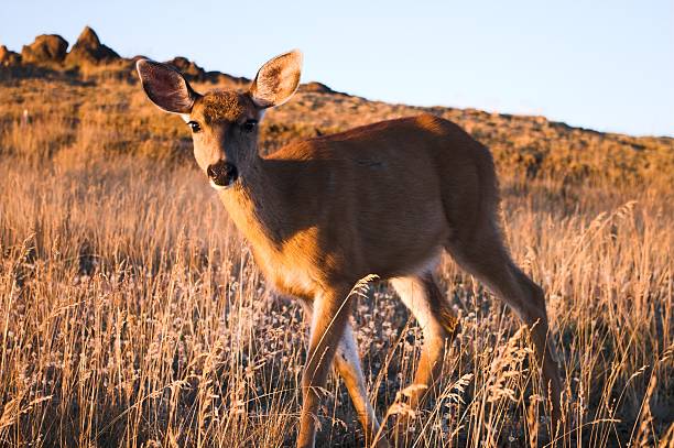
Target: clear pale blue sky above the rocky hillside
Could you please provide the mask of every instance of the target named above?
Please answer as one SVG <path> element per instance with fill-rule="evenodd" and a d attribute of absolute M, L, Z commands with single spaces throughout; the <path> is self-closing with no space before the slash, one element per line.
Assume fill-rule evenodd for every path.
<path fill-rule="evenodd" d="M 123 56 L 252 77 L 290 48 L 303 80 L 411 105 L 674 135 L 674 1 L 4 1 L 0 43 L 85 24 Z"/>

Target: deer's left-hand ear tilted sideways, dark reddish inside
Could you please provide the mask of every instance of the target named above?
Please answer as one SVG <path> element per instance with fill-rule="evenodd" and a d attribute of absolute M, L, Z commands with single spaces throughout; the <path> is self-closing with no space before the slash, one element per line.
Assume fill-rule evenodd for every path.
<path fill-rule="evenodd" d="M 189 113 L 198 94 L 178 70 L 150 59 L 135 63 L 148 98 L 161 109 L 173 113 Z"/>

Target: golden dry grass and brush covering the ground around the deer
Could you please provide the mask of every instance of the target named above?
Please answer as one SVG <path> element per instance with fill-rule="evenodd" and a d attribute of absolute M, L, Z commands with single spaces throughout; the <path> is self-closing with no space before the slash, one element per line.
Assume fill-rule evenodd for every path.
<path fill-rule="evenodd" d="M 4 79 L 0 105 L 0 445 L 292 445 L 300 306 L 260 276 L 184 124 L 104 76 Z M 417 110 L 304 92 L 268 114 L 263 140 Z M 445 259 L 461 329 L 406 444 L 672 446 L 673 141 L 432 111 L 494 152 L 513 255 L 547 293 L 566 418 L 552 436 L 526 334 Z M 385 285 L 355 319 L 382 415 L 421 331 Z M 328 390 L 319 444 L 360 446 L 345 387 Z"/>

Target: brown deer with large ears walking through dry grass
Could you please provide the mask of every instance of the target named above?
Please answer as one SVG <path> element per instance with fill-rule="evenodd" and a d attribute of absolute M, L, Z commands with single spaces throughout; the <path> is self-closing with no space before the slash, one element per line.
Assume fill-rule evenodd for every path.
<path fill-rule="evenodd" d="M 311 324 L 296 446 L 315 446 L 320 391 L 333 365 L 366 439 L 389 446 L 350 320 L 349 292 L 369 274 L 393 286 L 424 336 L 407 404 L 421 407 L 437 387 L 458 326 L 435 278 L 443 253 L 529 327 L 558 418 L 562 382 L 545 295 L 504 244 L 490 151 L 454 122 L 420 114 L 292 142 L 263 156 L 260 121 L 295 94 L 302 63 L 294 50 L 262 65 L 247 91 L 199 94 L 175 68 L 137 62 L 149 99 L 191 128 L 196 162 L 267 281 L 304 306 Z"/>

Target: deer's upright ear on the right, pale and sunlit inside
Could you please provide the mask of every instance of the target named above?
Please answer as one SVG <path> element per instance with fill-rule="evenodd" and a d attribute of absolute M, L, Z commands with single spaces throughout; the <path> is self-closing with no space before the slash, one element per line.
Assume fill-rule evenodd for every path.
<path fill-rule="evenodd" d="M 260 68 L 250 86 L 250 95 L 260 108 L 280 106 L 293 96 L 300 85 L 302 52 L 293 50 L 276 56 Z"/>

